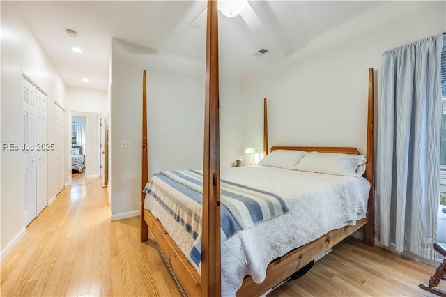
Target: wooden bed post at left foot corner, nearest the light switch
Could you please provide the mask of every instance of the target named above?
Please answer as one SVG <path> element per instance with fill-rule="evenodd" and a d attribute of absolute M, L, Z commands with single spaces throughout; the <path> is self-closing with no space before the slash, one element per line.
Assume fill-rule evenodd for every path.
<path fill-rule="evenodd" d="M 147 223 L 144 220 L 144 198 L 142 192 L 148 181 L 148 158 L 147 158 L 147 86 L 146 70 L 142 72 L 142 165 L 141 165 L 141 241 L 146 241 L 148 236 Z"/>

